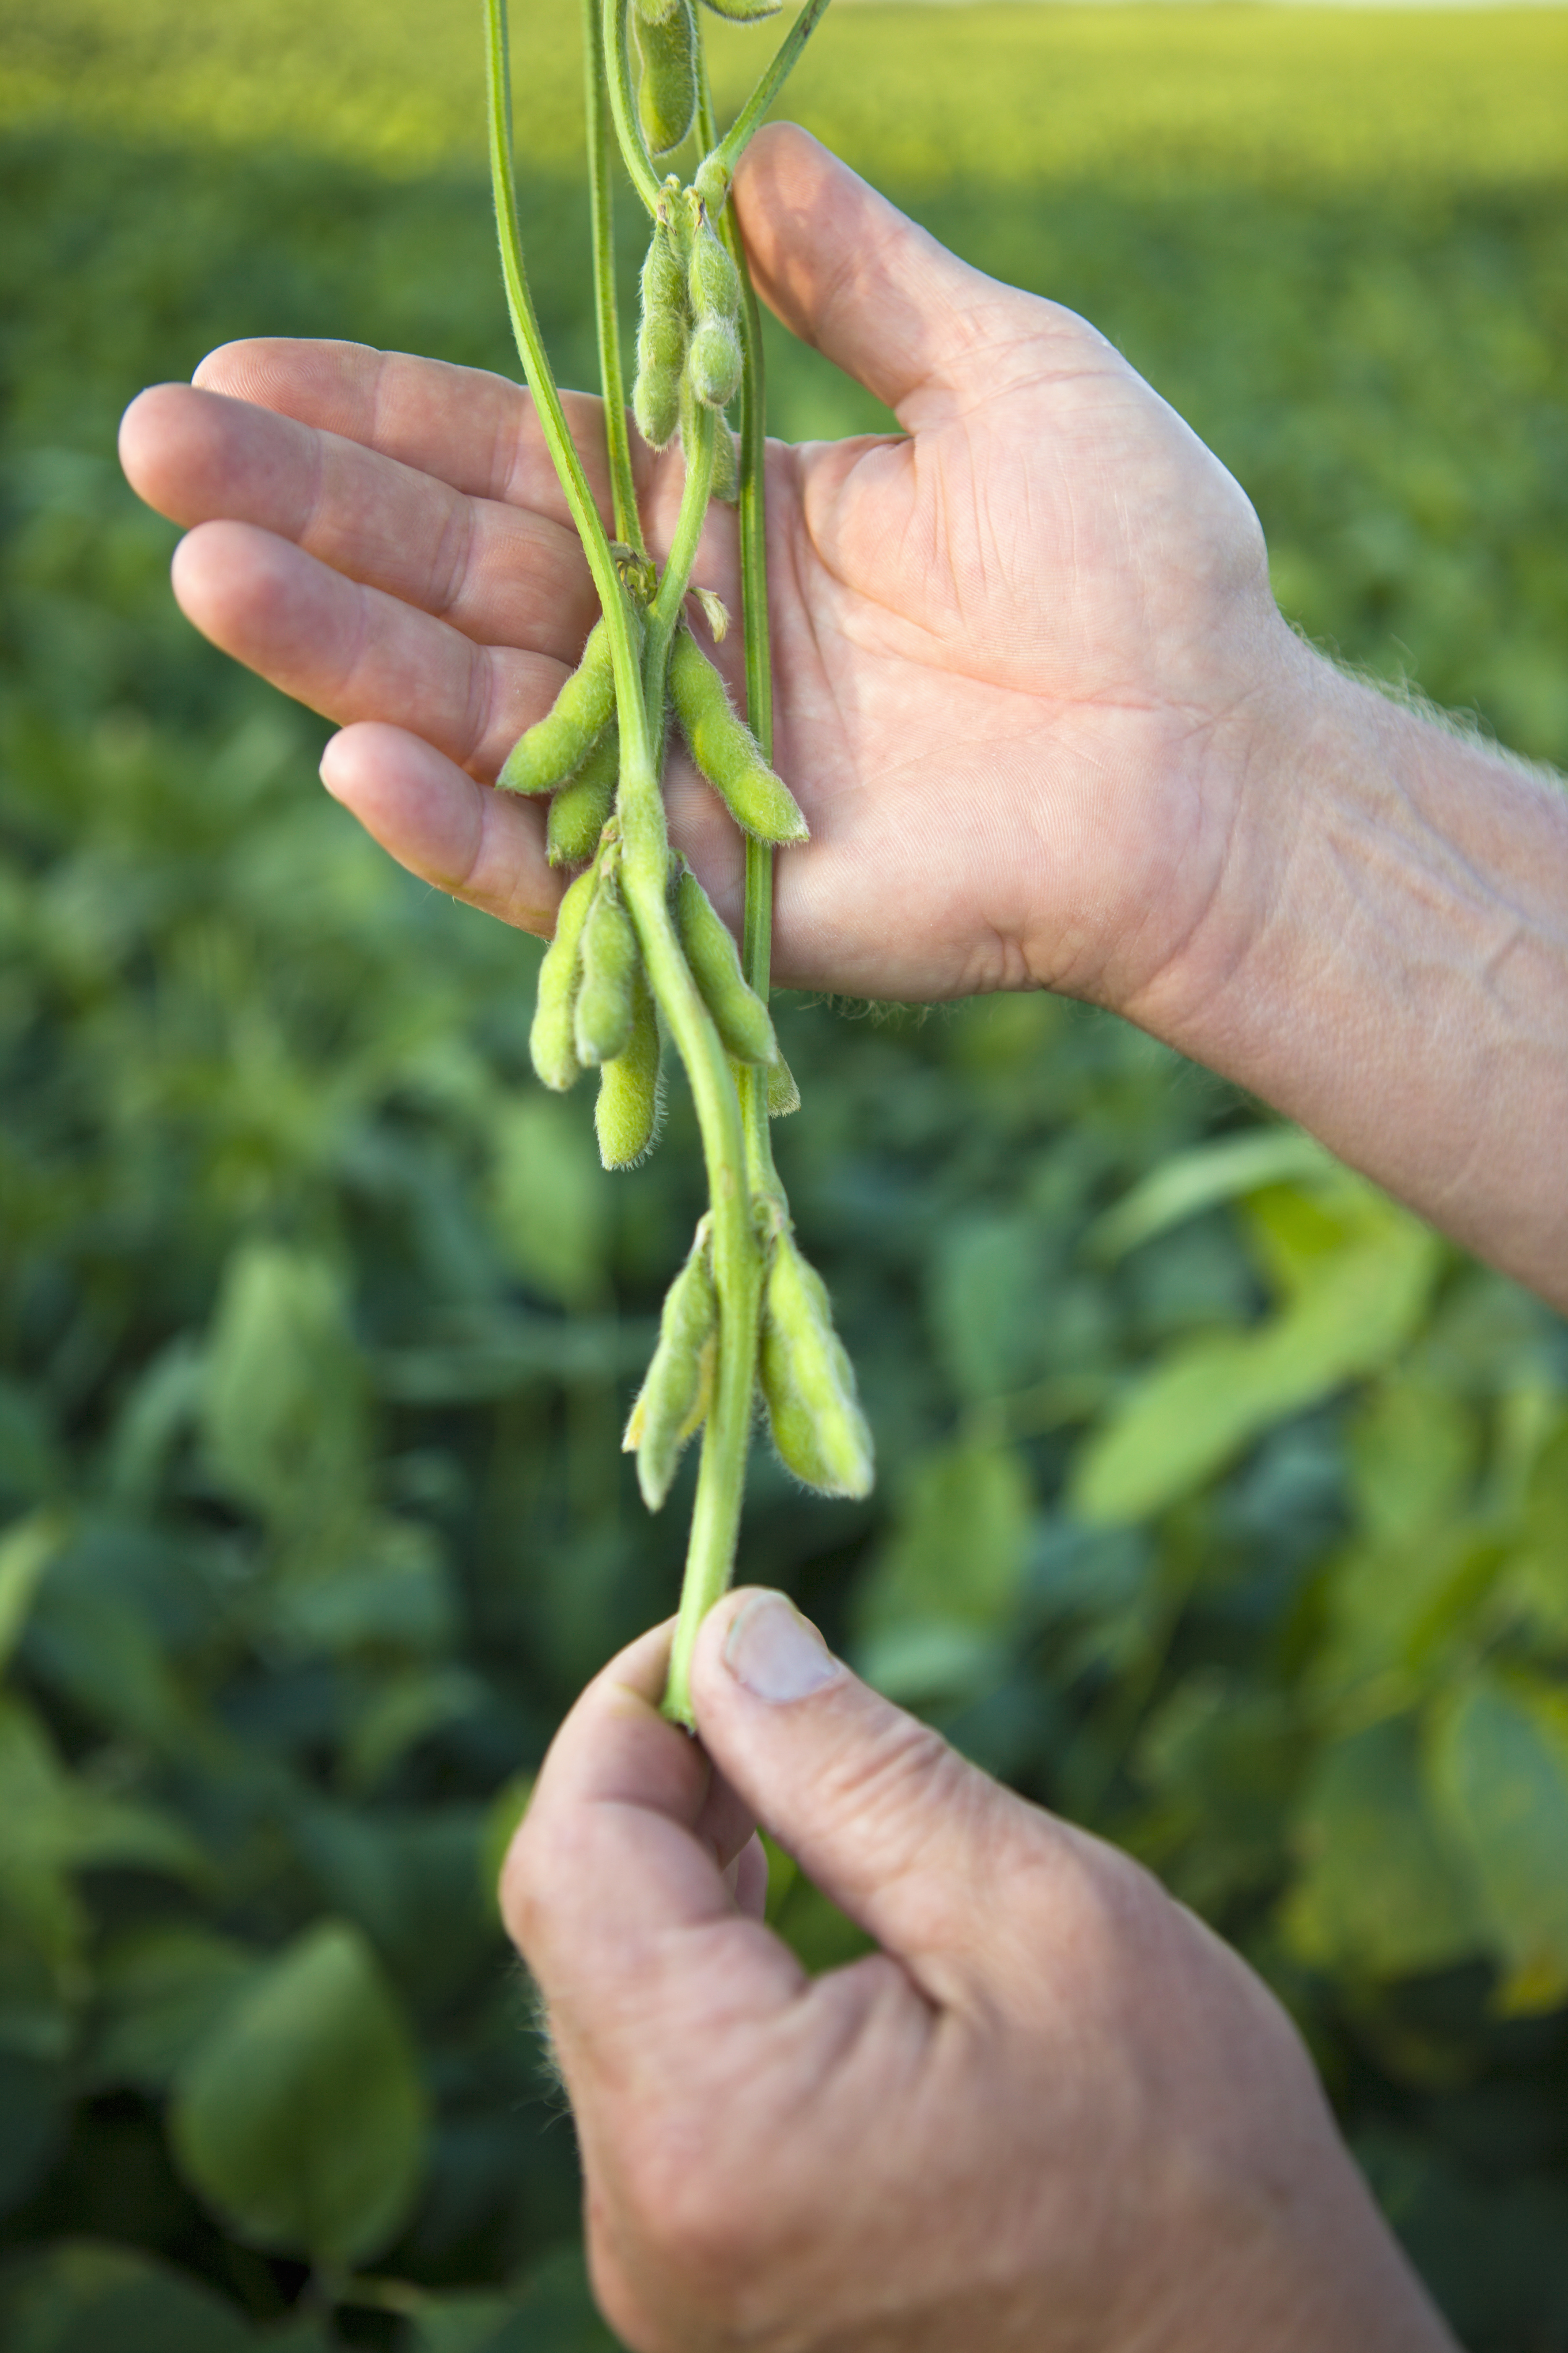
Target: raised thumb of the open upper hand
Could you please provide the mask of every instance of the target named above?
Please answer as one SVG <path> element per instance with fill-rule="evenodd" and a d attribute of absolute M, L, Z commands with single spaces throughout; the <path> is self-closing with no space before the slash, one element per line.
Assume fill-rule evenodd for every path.
<path fill-rule="evenodd" d="M 1053 322 L 1084 332 L 959 261 L 795 122 L 757 134 L 733 200 L 769 308 L 907 431 L 994 398 L 1020 367 L 1039 374 Z"/>

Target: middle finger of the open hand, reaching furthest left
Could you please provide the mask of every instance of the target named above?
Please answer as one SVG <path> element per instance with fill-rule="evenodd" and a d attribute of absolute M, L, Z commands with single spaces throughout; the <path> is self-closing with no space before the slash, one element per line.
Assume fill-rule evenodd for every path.
<path fill-rule="evenodd" d="M 174 522 L 261 525 L 482 645 L 571 661 L 597 614 L 576 532 L 244 400 L 155 384 L 120 461 Z"/>

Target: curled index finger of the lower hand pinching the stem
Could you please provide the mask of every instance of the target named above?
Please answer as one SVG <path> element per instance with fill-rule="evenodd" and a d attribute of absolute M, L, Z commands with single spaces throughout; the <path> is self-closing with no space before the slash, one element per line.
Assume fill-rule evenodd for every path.
<path fill-rule="evenodd" d="M 710 1767 L 658 1713 L 670 1628 L 588 1685 L 545 1758 L 501 1875 L 508 1929 L 562 2042 L 592 2038 L 599 2068 L 722 2019 L 778 2014 L 802 1988 L 795 1955 L 736 1911 L 715 1854 Z M 729 1857 L 726 1857 L 729 1861 Z"/>

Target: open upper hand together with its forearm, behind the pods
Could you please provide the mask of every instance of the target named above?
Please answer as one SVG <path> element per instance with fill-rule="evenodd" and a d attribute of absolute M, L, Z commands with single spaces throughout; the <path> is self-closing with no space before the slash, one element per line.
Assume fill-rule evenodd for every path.
<path fill-rule="evenodd" d="M 757 141 L 736 205 L 773 308 L 907 428 L 771 454 L 778 765 L 813 831 L 776 976 L 1110 1005 L 1568 1306 L 1568 795 L 1300 645 L 1244 492 L 1084 320 L 804 132 Z M 602 487 L 592 402 L 574 428 Z M 592 591 L 527 395 L 230 344 L 132 405 L 122 454 L 190 525 L 197 628 L 343 725 L 339 800 L 548 932 L 543 816 L 489 781 Z M 677 464 L 644 452 L 656 541 Z M 729 518 L 698 579 L 733 602 Z M 733 913 L 724 812 L 679 767 L 670 807 Z"/>

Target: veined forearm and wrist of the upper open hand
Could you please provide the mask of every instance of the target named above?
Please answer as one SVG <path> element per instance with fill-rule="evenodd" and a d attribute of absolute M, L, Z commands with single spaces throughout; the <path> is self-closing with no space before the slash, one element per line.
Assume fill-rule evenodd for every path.
<path fill-rule="evenodd" d="M 1568 791 L 1279 647 L 1227 871 L 1133 1019 L 1568 1308 Z"/>

